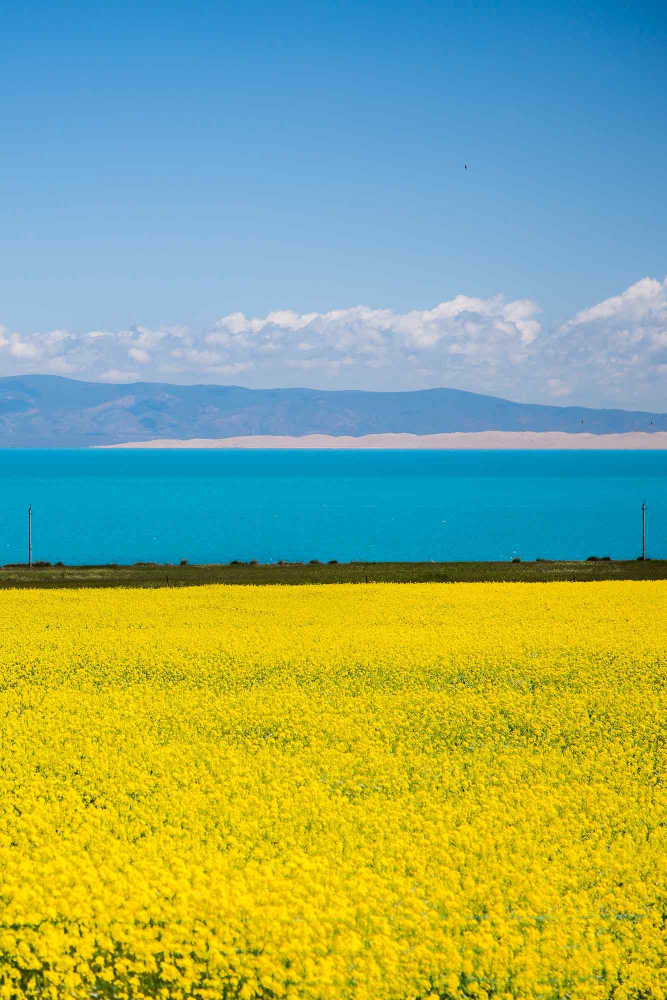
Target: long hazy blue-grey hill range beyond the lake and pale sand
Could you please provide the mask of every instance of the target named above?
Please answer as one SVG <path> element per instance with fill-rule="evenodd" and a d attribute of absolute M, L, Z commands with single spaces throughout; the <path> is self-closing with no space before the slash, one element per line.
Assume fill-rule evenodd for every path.
<path fill-rule="evenodd" d="M 244 389 L 56 375 L 0 378 L 0 447 L 82 448 L 154 438 L 454 431 L 666 431 L 667 414 L 511 403 L 458 389 Z"/>

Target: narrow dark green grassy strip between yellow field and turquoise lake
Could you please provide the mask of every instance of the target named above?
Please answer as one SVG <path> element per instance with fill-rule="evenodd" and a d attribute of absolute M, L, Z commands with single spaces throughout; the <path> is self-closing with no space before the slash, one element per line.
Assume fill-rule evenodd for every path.
<path fill-rule="evenodd" d="M 137 562 L 132 566 L 66 566 L 62 563 L 0 567 L 0 589 L 11 587 L 192 587 L 210 583 L 549 583 L 557 580 L 665 580 L 667 560 L 580 561 L 536 559 L 510 562 L 277 562 L 235 560 L 189 565 Z"/>

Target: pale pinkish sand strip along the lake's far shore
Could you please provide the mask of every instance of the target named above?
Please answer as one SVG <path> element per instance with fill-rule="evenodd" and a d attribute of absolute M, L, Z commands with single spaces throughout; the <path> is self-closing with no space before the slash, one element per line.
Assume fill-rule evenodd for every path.
<path fill-rule="evenodd" d="M 667 450 L 667 431 L 634 431 L 628 434 L 566 434 L 562 431 L 479 431 L 457 434 L 367 434 L 363 437 L 333 437 L 308 434 L 282 437 L 257 434 L 235 438 L 191 438 L 186 441 L 128 441 L 97 445 L 98 448 L 297 448 L 364 449 L 575 449 L 575 450 Z"/>

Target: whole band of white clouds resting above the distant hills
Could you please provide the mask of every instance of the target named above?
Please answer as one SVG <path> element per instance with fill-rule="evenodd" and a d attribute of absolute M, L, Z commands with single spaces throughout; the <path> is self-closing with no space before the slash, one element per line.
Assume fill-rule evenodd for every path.
<path fill-rule="evenodd" d="M 103 382 L 376 390 L 446 386 L 524 402 L 665 410 L 667 279 L 644 278 L 554 329 L 530 299 L 457 295 L 434 309 L 231 313 L 212 327 L 18 333 L 0 374 Z"/>

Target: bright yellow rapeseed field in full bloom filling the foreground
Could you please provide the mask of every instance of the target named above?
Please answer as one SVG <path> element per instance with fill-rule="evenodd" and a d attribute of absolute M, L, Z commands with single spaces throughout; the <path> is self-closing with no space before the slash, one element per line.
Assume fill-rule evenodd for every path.
<path fill-rule="evenodd" d="M 667 583 L 0 592 L 0 997 L 667 997 Z"/>

